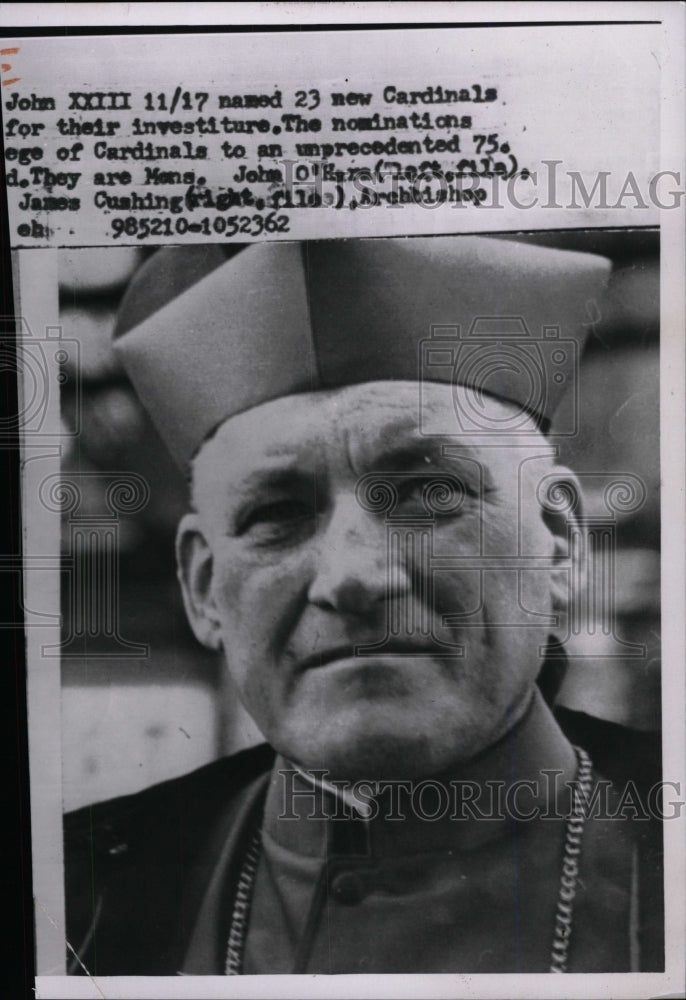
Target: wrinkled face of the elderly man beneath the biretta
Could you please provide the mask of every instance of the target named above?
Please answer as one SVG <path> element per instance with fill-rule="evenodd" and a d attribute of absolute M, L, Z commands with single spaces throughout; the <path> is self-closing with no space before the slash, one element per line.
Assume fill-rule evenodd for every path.
<path fill-rule="evenodd" d="M 450 386 L 422 391 L 424 431 L 454 422 Z M 197 514 L 180 529 L 204 641 L 209 627 L 266 739 L 334 777 L 436 774 L 478 754 L 525 710 L 550 632 L 554 539 L 533 502 L 544 439 L 427 436 L 417 404 L 416 383 L 380 382 L 232 417 L 196 459 Z M 392 484 L 390 512 L 360 484 L 370 474 Z M 427 521 L 425 490 L 446 479 L 455 497 Z"/>

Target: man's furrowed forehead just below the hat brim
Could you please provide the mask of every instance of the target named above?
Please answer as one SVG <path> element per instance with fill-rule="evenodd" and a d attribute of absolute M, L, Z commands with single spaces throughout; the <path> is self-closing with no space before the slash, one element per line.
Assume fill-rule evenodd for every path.
<path fill-rule="evenodd" d="M 481 425 L 466 432 L 461 409 Z M 488 460 L 485 438 L 492 443 L 513 415 L 517 424 L 510 444 L 521 449 L 529 442 L 540 449 L 544 438 L 532 419 L 464 386 L 388 381 L 284 396 L 225 420 L 200 448 L 194 476 L 216 478 L 222 470 L 235 482 L 261 466 L 340 459 L 362 474 L 406 448 L 430 451 L 441 442 L 459 442 L 465 452 Z"/>

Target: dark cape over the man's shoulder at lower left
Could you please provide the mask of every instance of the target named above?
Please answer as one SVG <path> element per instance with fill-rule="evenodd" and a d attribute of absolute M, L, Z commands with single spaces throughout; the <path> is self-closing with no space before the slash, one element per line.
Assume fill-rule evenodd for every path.
<path fill-rule="evenodd" d="M 71 974 L 175 975 L 217 828 L 272 766 L 266 744 L 64 817 Z M 87 970 L 87 971 L 86 971 Z"/>

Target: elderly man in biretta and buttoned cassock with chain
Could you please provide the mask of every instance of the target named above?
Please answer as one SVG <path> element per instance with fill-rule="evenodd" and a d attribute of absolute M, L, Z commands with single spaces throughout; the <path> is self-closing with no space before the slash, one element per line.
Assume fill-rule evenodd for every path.
<path fill-rule="evenodd" d="M 67 818 L 72 971 L 659 967 L 640 840 L 606 785 L 584 822 L 542 694 L 579 576 L 544 432 L 607 270 L 474 237 L 142 269 L 117 350 L 190 476 L 191 626 L 267 742 Z"/>

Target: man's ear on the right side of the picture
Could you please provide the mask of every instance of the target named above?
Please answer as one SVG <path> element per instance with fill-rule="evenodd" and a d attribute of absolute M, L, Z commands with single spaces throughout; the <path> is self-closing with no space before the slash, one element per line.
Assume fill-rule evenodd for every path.
<path fill-rule="evenodd" d="M 568 634 L 569 616 L 585 587 L 584 542 L 579 528 L 582 516 L 581 484 L 565 466 L 556 465 L 549 478 L 549 502 L 542 509 L 543 521 L 553 537 L 553 567 L 550 574 L 553 614 L 558 626 L 551 629 L 558 639 Z"/>

